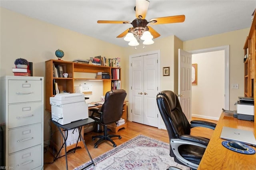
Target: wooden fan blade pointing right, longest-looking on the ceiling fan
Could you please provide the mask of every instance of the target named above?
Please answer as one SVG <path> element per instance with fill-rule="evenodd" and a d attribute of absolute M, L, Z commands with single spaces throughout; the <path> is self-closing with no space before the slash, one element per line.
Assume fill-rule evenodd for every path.
<path fill-rule="evenodd" d="M 151 21 L 156 21 L 156 23 Z M 160 18 L 152 18 L 150 19 L 150 24 L 157 25 L 157 24 L 170 24 L 170 23 L 176 23 L 176 22 L 184 22 L 185 16 L 184 15 L 177 15 L 177 16 L 166 16 L 166 17 L 160 17 Z"/>

